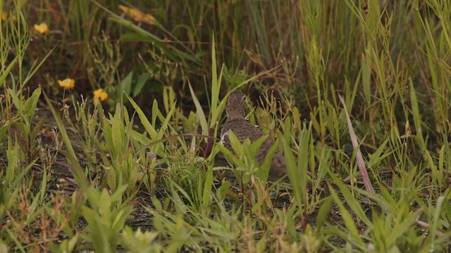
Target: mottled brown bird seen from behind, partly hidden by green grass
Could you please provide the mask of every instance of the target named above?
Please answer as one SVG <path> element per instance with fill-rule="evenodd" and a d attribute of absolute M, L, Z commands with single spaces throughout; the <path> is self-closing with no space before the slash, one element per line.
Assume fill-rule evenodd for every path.
<path fill-rule="evenodd" d="M 253 143 L 257 141 L 261 136 L 265 136 L 264 131 L 259 129 L 259 126 L 250 124 L 246 116 L 245 111 L 246 96 L 242 91 L 232 91 L 227 100 L 227 119 L 221 129 L 221 143 L 228 150 L 233 151 L 230 145 L 228 135 L 230 131 L 237 136 L 238 140 L 243 143 L 247 138 Z M 259 165 L 263 164 L 266 154 L 273 145 L 271 138 L 266 138 L 263 144 L 261 144 L 259 151 L 257 152 L 257 162 Z M 271 161 L 271 169 L 269 169 L 269 179 L 280 179 L 287 174 L 287 167 L 285 158 L 277 150 Z"/>

